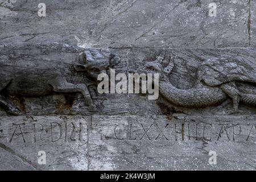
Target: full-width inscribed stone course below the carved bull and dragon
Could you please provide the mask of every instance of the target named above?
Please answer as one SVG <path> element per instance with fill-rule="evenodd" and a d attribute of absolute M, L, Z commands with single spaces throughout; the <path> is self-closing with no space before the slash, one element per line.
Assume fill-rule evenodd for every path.
<path fill-rule="evenodd" d="M 256 115 L 0 117 L 0 169 L 249 170 L 256 166 L 255 121 Z M 46 165 L 38 164 L 39 151 Z M 209 151 L 216 151 L 216 165 L 208 163 Z"/>

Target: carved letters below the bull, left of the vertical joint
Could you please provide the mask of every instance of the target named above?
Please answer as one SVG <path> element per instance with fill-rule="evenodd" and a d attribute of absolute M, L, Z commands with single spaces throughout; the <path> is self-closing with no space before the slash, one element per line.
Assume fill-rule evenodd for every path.
<path fill-rule="evenodd" d="M 1 126 L 0 140 L 8 143 L 86 142 L 86 119 L 56 118 L 58 117 L 47 117 L 32 122 L 15 118 L 15 122 Z"/>

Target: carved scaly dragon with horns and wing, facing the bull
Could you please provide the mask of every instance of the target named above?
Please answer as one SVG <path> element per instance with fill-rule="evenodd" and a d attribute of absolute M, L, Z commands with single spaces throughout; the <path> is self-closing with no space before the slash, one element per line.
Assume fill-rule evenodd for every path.
<path fill-rule="evenodd" d="M 256 90 L 242 84 L 256 83 L 254 65 L 231 59 L 208 59 L 197 69 L 196 84 L 189 89 L 179 89 L 168 81 L 174 61 L 163 67 L 164 52 L 155 61 L 148 62 L 142 69 L 147 73 L 160 73 L 159 92 L 167 101 L 184 107 L 203 107 L 220 104 L 227 98 L 233 101 L 233 111 L 237 112 L 240 102 L 256 106 Z M 239 86 L 242 85 L 242 89 Z"/>

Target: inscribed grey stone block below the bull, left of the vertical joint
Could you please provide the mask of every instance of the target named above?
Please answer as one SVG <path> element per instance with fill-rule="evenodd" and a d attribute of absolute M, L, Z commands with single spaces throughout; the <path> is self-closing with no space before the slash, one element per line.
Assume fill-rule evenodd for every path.
<path fill-rule="evenodd" d="M 0 170 L 86 170 L 88 124 L 80 116 L 1 117 Z"/>

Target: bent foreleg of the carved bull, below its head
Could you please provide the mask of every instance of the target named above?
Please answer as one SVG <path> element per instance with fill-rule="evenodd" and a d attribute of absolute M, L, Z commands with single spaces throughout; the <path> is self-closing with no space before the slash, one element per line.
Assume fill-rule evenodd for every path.
<path fill-rule="evenodd" d="M 85 104 L 90 106 L 90 110 L 95 111 L 96 106 L 92 98 L 90 97 L 89 90 L 85 84 L 72 84 L 67 81 L 58 82 L 56 84 L 52 84 L 53 91 L 59 93 L 75 93 L 79 92 L 85 99 Z"/>

